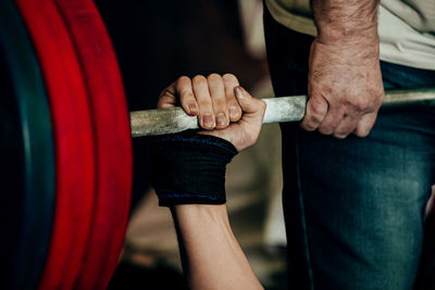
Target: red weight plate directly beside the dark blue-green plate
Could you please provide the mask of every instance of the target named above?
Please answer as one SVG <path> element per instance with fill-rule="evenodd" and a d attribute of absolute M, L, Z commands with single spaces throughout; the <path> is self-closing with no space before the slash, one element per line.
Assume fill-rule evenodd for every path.
<path fill-rule="evenodd" d="M 40 289 L 77 277 L 95 194 L 94 125 L 80 66 L 52 0 L 15 0 L 41 64 L 53 123 L 57 185 L 53 231 Z"/>

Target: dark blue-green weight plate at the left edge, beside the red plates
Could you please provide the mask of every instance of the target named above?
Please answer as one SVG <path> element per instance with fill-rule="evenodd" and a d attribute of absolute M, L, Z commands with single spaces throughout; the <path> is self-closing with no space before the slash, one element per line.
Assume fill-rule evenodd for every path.
<path fill-rule="evenodd" d="M 7 257 L 1 262 L 0 288 L 34 289 L 51 236 L 54 149 L 42 76 L 12 0 L 0 0 L 0 223 Z"/>

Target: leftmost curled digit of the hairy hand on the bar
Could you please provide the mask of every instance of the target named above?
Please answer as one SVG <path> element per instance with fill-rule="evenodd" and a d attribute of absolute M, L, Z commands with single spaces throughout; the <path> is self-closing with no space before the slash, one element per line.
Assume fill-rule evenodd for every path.
<path fill-rule="evenodd" d="M 325 117 L 327 106 L 323 97 L 311 97 L 307 102 L 307 113 L 300 126 L 309 131 L 315 130 Z"/>

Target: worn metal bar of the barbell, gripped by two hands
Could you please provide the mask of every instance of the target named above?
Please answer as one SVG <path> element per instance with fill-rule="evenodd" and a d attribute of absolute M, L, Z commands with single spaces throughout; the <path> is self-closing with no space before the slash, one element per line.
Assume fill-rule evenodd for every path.
<path fill-rule="evenodd" d="M 263 99 L 266 103 L 263 124 L 301 121 L 307 96 Z M 386 91 L 383 108 L 433 106 L 435 88 Z M 132 136 L 153 136 L 198 129 L 198 117 L 187 115 L 181 106 L 130 112 Z"/>

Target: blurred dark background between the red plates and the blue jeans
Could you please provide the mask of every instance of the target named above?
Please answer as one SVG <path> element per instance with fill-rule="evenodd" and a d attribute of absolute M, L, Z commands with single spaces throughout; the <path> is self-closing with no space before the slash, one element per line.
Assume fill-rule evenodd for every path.
<path fill-rule="evenodd" d="M 182 75 L 232 73 L 252 96 L 273 97 L 261 0 L 96 2 L 130 111 L 153 109 L 160 91 Z M 134 140 L 134 154 L 130 222 L 110 289 L 186 289 L 170 211 L 150 189 L 147 138 Z M 264 126 L 259 142 L 229 164 L 226 188 L 229 219 L 253 270 L 266 289 L 286 289 L 277 125 Z"/>

